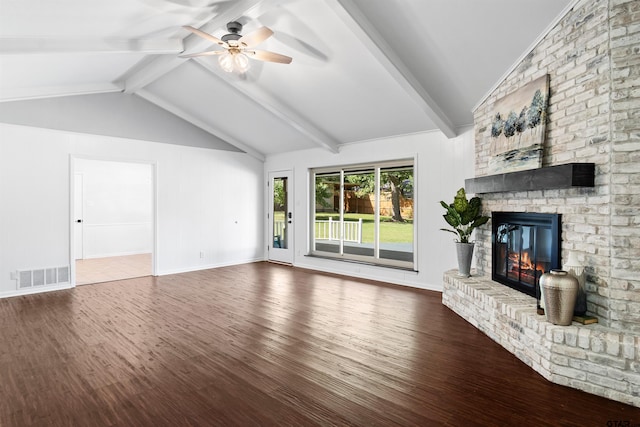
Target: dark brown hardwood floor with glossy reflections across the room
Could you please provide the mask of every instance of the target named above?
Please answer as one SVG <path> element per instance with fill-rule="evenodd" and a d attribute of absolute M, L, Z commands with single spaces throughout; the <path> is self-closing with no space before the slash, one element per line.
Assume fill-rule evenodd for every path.
<path fill-rule="evenodd" d="M 610 426 L 439 293 L 268 263 L 0 300 L 0 426 Z"/>

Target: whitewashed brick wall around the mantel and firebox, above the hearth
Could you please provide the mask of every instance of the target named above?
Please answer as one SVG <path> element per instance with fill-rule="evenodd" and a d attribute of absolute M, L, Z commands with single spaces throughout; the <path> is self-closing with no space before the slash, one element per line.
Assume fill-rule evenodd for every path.
<path fill-rule="evenodd" d="M 562 214 L 562 260 L 586 266 L 588 312 L 640 333 L 640 1 L 581 0 L 475 110 L 476 176 L 490 175 L 500 98 L 545 74 L 550 98 L 543 167 L 596 164 L 595 188 L 482 194 L 491 211 Z M 491 271 L 491 227 L 476 231 Z M 640 367 L 636 367 L 640 372 Z"/>

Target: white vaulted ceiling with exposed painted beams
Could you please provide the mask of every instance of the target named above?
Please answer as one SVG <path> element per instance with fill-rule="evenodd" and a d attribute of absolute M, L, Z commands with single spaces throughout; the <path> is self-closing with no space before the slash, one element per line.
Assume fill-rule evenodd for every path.
<path fill-rule="evenodd" d="M 256 157 L 471 125 L 572 0 L 0 0 L 0 102 L 135 94 Z M 244 76 L 182 28 L 232 20 L 289 65 Z M 124 95 L 123 95 L 124 96 Z M 0 121 L 2 118 L 0 117 Z"/>

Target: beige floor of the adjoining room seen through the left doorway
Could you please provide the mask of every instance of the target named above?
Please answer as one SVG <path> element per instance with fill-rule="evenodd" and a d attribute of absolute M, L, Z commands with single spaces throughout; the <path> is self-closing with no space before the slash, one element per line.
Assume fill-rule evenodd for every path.
<path fill-rule="evenodd" d="M 151 254 L 76 260 L 76 284 L 110 282 L 150 276 Z"/>

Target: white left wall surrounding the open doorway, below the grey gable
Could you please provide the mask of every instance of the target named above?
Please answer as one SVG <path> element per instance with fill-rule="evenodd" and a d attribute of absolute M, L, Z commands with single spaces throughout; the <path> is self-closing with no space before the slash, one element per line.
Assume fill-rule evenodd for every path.
<path fill-rule="evenodd" d="M 10 278 L 16 270 L 71 264 L 70 163 L 76 157 L 155 165 L 159 274 L 263 259 L 259 160 L 0 124 L 0 296 L 16 294 Z"/>

